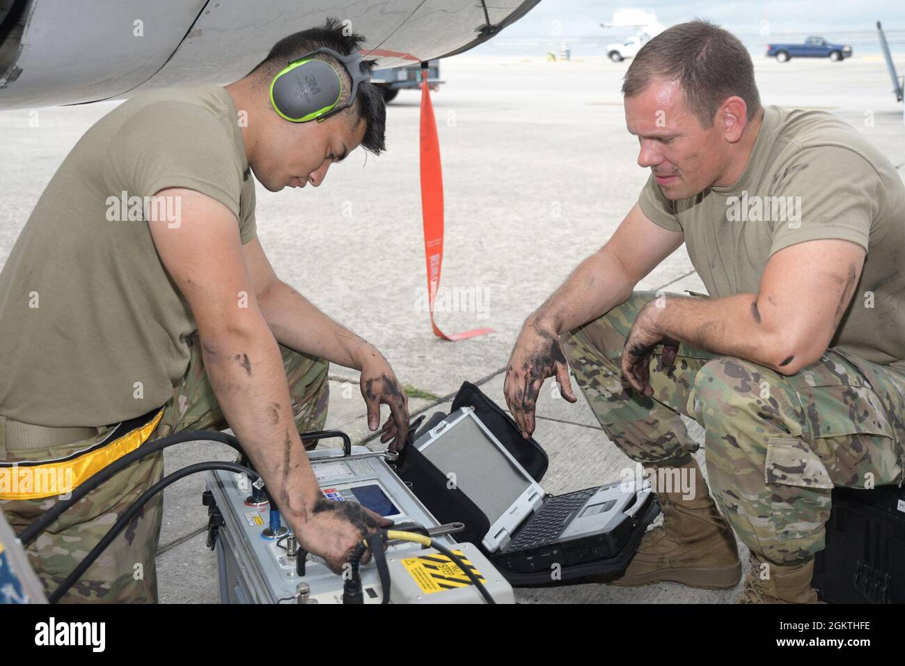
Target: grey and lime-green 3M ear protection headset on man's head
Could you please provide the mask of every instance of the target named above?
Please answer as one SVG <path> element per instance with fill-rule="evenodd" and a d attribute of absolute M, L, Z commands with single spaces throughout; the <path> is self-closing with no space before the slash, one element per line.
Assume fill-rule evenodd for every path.
<path fill-rule="evenodd" d="M 317 53 L 327 53 L 336 58 L 352 79 L 352 92 L 345 104 L 342 97 L 342 77 L 329 63 L 312 58 Z M 371 80 L 362 72 L 361 54 L 357 51 L 340 55 L 328 48 L 319 48 L 294 60 L 271 82 L 271 104 L 282 118 L 292 122 L 324 121 L 335 113 L 348 109 L 355 103 L 358 84 Z"/>

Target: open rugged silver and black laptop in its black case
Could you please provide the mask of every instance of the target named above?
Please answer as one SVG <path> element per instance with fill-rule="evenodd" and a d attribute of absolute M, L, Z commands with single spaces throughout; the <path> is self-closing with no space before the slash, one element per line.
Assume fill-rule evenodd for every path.
<path fill-rule="evenodd" d="M 550 496 L 500 440 L 462 407 L 414 447 L 481 509 L 490 522 L 481 545 L 494 564 L 518 574 L 559 573 L 612 560 L 649 515 L 649 483 L 633 479 Z M 644 521 L 649 522 L 649 521 Z M 583 567 L 587 568 L 587 567 Z"/>

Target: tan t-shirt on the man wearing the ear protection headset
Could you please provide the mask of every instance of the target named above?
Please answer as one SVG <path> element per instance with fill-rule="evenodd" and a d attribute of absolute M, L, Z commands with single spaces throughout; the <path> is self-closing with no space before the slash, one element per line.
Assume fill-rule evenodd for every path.
<path fill-rule="evenodd" d="M 170 400 L 195 320 L 157 256 L 145 197 L 188 188 L 255 236 L 254 180 L 229 94 L 143 92 L 94 124 L 38 199 L 0 272 L 0 415 L 100 426 Z"/>

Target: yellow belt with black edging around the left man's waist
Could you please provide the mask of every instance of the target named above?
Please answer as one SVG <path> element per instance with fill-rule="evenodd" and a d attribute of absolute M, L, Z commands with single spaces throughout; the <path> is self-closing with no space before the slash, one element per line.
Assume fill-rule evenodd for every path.
<path fill-rule="evenodd" d="M 123 421 L 88 449 L 59 460 L 0 462 L 0 499 L 67 495 L 111 462 L 138 449 L 157 430 L 164 410 Z"/>

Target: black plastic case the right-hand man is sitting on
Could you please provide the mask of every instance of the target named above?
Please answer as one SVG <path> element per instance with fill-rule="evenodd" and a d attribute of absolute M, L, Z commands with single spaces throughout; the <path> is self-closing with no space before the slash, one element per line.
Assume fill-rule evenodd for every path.
<path fill-rule="evenodd" d="M 837 487 L 814 589 L 829 603 L 905 603 L 905 488 Z"/>

